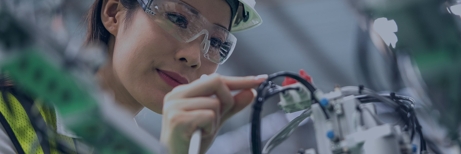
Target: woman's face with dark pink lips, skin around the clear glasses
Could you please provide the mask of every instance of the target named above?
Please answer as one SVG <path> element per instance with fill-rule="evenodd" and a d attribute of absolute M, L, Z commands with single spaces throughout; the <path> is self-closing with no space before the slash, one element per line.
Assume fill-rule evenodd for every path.
<path fill-rule="evenodd" d="M 225 0 L 181 1 L 194 7 L 209 22 L 228 29 L 231 9 Z M 122 22 L 115 36 L 114 75 L 136 101 L 156 113 L 161 113 L 164 96 L 178 82 L 190 83 L 218 68 L 218 64 L 201 53 L 200 43 L 204 35 L 189 43 L 179 42 L 141 7 L 126 25 Z"/>

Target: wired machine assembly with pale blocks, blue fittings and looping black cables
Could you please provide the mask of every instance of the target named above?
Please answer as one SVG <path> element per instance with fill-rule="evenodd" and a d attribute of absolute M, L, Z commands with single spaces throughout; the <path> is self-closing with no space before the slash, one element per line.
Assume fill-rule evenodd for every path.
<path fill-rule="evenodd" d="M 274 80 L 277 77 L 290 77 L 294 80 L 299 81 L 300 84 L 279 86 L 272 82 L 272 80 Z M 302 89 L 307 89 L 308 91 L 305 92 Z M 296 93 L 293 91 L 295 91 Z M 371 89 L 364 88 L 363 86 L 346 86 L 343 88 L 337 87 L 335 88 L 335 91 L 324 94 L 319 89 L 316 89 L 310 82 L 305 80 L 303 77 L 290 71 L 282 71 L 269 75 L 268 79 L 264 83 L 262 83 L 260 87 L 257 89 L 257 92 L 258 95 L 255 98 L 255 103 L 253 105 L 253 113 L 251 117 L 251 144 L 253 154 L 269 154 L 273 148 L 275 148 L 278 144 L 283 142 L 293 133 L 293 131 L 296 129 L 296 127 L 298 127 L 301 121 L 311 116 L 311 114 L 315 115 L 316 111 L 319 114 L 317 114 L 316 118 L 314 119 L 314 125 L 316 125 L 315 127 L 323 125 L 319 128 L 331 129 L 328 131 L 325 130 L 325 132 L 327 132 L 327 136 L 319 136 L 319 133 L 316 132 L 316 139 L 318 144 L 320 144 L 320 146 L 318 145 L 318 148 L 322 148 L 321 145 L 325 145 L 325 142 L 328 144 L 328 148 L 320 150 L 317 149 L 318 153 L 320 154 L 323 154 L 322 152 L 325 152 L 325 150 L 327 151 L 327 153 L 332 154 L 355 154 L 354 150 L 357 152 L 362 150 L 362 148 L 364 148 L 365 151 L 367 151 L 366 149 L 369 149 L 369 147 L 362 147 L 364 145 L 363 143 L 366 141 L 371 141 L 369 141 L 367 138 L 363 139 L 363 141 L 359 141 L 359 138 L 363 138 L 362 136 L 364 132 L 383 132 L 383 129 L 389 130 L 390 134 L 383 134 L 383 136 L 379 136 L 379 133 L 377 133 L 378 135 L 375 137 L 385 138 L 385 136 L 387 136 L 387 138 L 389 138 L 388 136 L 392 136 L 391 138 L 393 140 L 390 140 L 392 142 L 389 142 L 388 145 L 384 144 L 382 145 L 382 147 L 378 148 L 391 147 L 394 148 L 395 151 L 400 152 L 400 154 L 417 154 L 417 146 L 412 144 L 412 141 L 415 138 L 415 134 L 418 133 L 420 139 L 419 154 L 429 153 L 426 148 L 426 141 L 421 131 L 420 122 L 416 118 L 416 113 L 414 111 L 415 101 L 411 97 L 396 95 L 393 92 L 387 94 L 378 94 Z M 288 95 L 305 95 L 305 93 L 310 94 L 309 102 L 311 102 L 311 104 L 297 105 L 296 107 L 298 108 L 295 109 L 290 108 L 287 110 L 286 108 L 284 108 L 290 107 L 290 101 L 298 101 L 299 103 L 300 100 L 292 99 Z M 284 103 L 279 103 L 279 107 L 281 107 L 285 113 L 291 113 L 287 111 L 302 110 L 304 110 L 304 112 L 302 112 L 300 116 L 286 124 L 281 130 L 279 130 L 274 136 L 272 136 L 272 138 L 269 139 L 264 148 L 261 148 L 262 146 L 260 137 L 260 113 L 262 110 L 262 105 L 264 101 L 276 94 L 280 95 L 281 102 L 286 101 Z M 303 102 L 305 103 L 306 101 Z M 374 111 L 374 103 L 384 103 L 385 106 L 392 108 L 395 111 L 395 113 L 397 113 L 399 120 L 397 120 L 397 122 L 393 124 L 386 124 L 385 122 L 383 122 L 381 119 L 378 118 L 376 111 Z M 284 106 L 281 106 L 281 104 L 283 104 Z M 370 105 L 372 107 L 370 107 Z M 374 125 L 370 123 L 373 123 Z M 322 129 L 316 129 L 316 131 L 319 130 Z M 351 143 L 351 141 L 354 142 Z M 333 148 L 331 148 L 331 145 L 334 145 Z M 354 147 L 351 145 L 359 146 Z M 335 148 L 335 146 L 337 147 Z M 370 146 L 370 144 L 367 144 L 366 146 Z M 376 148 L 376 146 L 381 145 L 378 144 L 372 146 L 375 146 L 373 148 Z M 315 150 L 311 149 L 310 151 Z M 437 154 L 437 152 L 435 153 Z M 302 152 L 301 154 L 311 153 L 307 152 L 306 150 L 306 153 Z M 383 152 L 379 154 L 387 153 Z"/>

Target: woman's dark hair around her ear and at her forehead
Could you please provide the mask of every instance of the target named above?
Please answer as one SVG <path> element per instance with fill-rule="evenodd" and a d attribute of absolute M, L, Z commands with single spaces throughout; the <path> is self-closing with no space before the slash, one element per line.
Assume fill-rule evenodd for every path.
<path fill-rule="evenodd" d="M 95 3 L 93 3 L 86 13 L 85 19 L 87 21 L 88 30 L 85 44 L 87 45 L 97 43 L 107 44 L 109 42 L 110 33 L 106 30 L 101 21 L 102 1 L 103 0 L 95 0 Z M 137 0 L 120 0 L 120 4 L 124 6 L 124 11 L 126 13 L 124 22 L 127 23 L 125 25 L 128 27 L 136 9 L 141 8 L 141 5 L 139 5 Z"/>

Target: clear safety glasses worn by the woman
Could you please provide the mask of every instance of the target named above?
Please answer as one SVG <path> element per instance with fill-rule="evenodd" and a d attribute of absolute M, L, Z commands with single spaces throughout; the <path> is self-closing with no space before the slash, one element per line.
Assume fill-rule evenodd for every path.
<path fill-rule="evenodd" d="M 178 41 L 189 43 L 205 35 L 200 50 L 214 63 L 223 64 L 234 51 L 237 38 L 228 30 L 210 23 L 193 7 L 179 0 L 138 1 L 149 17 Z"/>

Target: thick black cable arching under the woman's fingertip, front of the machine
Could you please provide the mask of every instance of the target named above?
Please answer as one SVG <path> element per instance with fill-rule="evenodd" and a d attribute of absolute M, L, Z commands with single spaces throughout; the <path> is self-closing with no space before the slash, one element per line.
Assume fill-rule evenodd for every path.
<path fill-rule="evenodd" d="M 267 86 L 269 86 L 269 89 L 271 89 L 272 87 L 277 87 L 275 84 L 272 83 L 272 80 L 276 77 L 291 77 L 295 80 L 298 80 L 301 84 L 306 86 L 306 88 L 311 92 L 314 103 L 319 102 L 319 100 L 317 100 L 317 98 L 315 98 L 315 95 L 314 95 L 316 88 L 314 88 L 311 83 L 307 82 L 305 79 L 300 77 L 298 74 L 291 72 L 291 71 L 280 71 L 280 72 L 269 75 L 267 80 L 261 83 L 261 85 L 256 90 L 258 94 L 253 104 L 253 111 L 252 111 L 253 113 L 251 116 L 251 147 L 252 147 L 253 154 L 261 154 L 261 132 L 260 131 L 261 131 L 262 105 L 264 101 L 266 101 L 266 98 L 269 98 L 271 95 L 281 92 L 281 91 L 274 91 L 276 89 L 271 90 L 271 92 L 269 93 L 267 91 L 264 91 L 264 89 L 266 89 Z M 320 107 L 323 109 L 323 112 L 325 113 L 325 117 L 327 119 L 330 118 L 328 114 L 326 113 L 325 108 L 323 106 L 320 106 Z"/>

